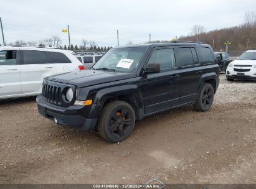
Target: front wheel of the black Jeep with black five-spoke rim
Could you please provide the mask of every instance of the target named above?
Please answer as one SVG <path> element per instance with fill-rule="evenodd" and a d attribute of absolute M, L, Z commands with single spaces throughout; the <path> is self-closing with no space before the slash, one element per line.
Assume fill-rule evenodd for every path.
<path fill-rule="evenodd" d="M 135 126 L 135 111 L 124 101 L 113 101 L 102 109 L 97 124 L 100 136 L 108 142 L 121 142 Z"/>

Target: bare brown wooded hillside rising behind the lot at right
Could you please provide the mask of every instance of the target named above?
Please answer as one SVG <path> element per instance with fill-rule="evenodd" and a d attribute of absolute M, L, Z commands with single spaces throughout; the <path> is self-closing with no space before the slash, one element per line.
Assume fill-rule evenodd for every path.
<path fill-rule="evenodd" d="M 200 41 L 212 45 L 215 51 L 224 51 L 227 41 L 230 50 L 256 49 L 256 12 L 246 12 L 244 23 L 235 27 L 206 32 L 202 25 L 194 25 L 191 34 L 179 40 Z"/>

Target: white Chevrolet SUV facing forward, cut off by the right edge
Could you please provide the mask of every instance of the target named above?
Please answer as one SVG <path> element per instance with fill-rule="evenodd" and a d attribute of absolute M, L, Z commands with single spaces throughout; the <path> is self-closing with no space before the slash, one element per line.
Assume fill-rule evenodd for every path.
<path fill-rule="evenodd" d="M 247 50 L 230 62 L 225 72 L 227 80 L 256 80 L 256 50 Z"/>

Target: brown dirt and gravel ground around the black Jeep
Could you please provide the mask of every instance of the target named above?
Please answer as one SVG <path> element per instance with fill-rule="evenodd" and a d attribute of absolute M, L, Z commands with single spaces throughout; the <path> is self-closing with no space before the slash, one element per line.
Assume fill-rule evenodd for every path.
<path fill-rule="evenodd" d="M 136 122 L 120 144 L 56 125 L 35 98 L 0 102 L 0 183 L 256 183 L 256 83 L 220 85 L 192 106 Z"/>

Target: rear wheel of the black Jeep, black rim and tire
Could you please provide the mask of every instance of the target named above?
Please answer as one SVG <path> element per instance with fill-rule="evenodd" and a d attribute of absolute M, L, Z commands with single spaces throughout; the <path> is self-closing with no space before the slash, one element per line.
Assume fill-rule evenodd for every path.
<path fill-rule="evenodd" d="M 214 101 L 214 88 L 210 83 L 204 83 L 202 89 L 197 96 L 194 107 L 197 111 L 207 111 L 211 108 Z"/>

